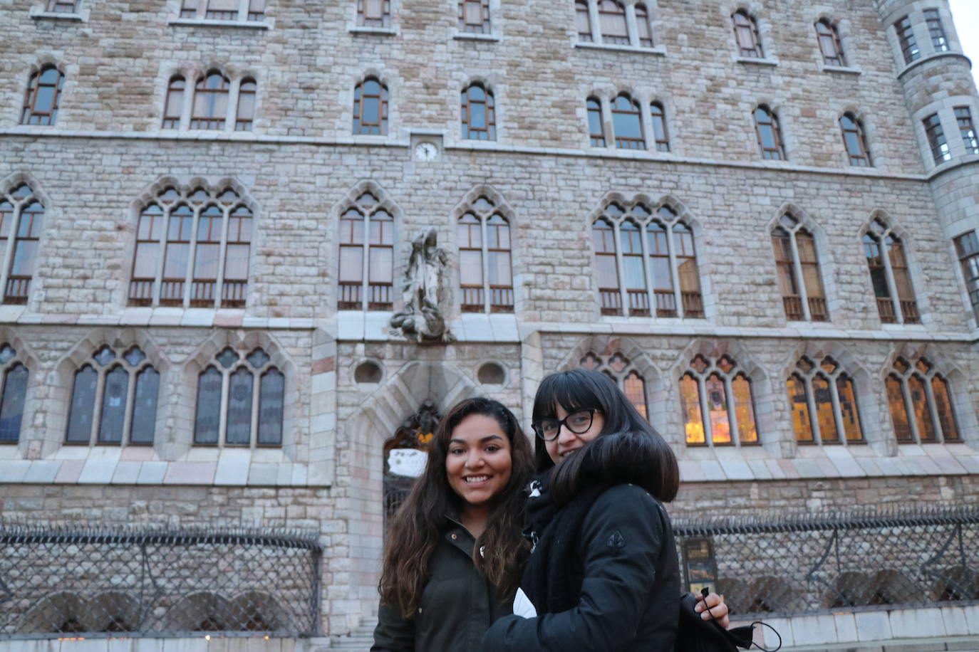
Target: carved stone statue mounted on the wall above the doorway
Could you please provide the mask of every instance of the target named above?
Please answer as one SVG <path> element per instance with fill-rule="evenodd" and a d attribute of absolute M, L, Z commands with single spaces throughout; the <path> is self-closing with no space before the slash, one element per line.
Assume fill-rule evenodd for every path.
<path fill-rule="evenodd" d="M 401 298 L 404 308 L 391 318 L 391 326 L 417 341 L 450 342 L 454 338 L 442 314 L 442 282 L 445 251 L 437 243 L 435 229 L 411 242 L 411 257 L 404 273 Z"/>

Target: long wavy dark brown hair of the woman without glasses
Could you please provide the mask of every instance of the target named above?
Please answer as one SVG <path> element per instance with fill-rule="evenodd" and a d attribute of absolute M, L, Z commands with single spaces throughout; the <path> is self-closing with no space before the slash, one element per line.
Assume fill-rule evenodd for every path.
<path fill-rule="evenodd" d="M 429 580 L 429 561 L 443 537 L 445 516 L 457 514 L 462 506 L 445 476 L 445 457 L 455 426 L 473 414 L 489 416 L 499 423 L 510 441 L 512 464 L 510 481 L 493 500 L 486 530 L 473 546 L 473 563 L 496 587 L 500 599 L 512 599 L 520 584 L 530 549 L 521 536 L 521 528 L 526 499 L 523 490 L 533 475 L 531 444 L 517 418 L 503 404 L 485 398 L 466 399 L 449 410 L 436 427 L 425 472 L 398 508 L 384 544 L 378 590 L 381 601 L 398 609 L 404 618 L 418 611 Z"/>

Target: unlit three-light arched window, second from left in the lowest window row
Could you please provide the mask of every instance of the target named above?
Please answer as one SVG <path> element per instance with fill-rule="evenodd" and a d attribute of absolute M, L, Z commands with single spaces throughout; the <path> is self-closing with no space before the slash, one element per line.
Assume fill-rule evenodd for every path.
<path fill-rule="evenodd" d="M 153 444 L 160 372 L 138 346 L 103 346 L 74 372 L 68 444 Z"/>

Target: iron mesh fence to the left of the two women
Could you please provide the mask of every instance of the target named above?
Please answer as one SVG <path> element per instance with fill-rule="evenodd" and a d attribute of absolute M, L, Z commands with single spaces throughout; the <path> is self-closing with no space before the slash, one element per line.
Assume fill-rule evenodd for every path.
<path fill-rule="evenodd" d="M 300 532 L 0 523 L 0 638 L 316 635 L 321 558 Z"/>

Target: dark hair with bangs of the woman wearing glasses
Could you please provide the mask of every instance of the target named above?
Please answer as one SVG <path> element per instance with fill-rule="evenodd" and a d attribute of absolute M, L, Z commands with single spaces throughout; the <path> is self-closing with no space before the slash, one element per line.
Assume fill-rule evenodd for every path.
<path fill-rule="evenodd" d="M 537 387 L 533 420 L 554 417 L 558 406 L 567 413 L 595 408 L 601 411 L 605 425 L 598 437 L 551 473 L 553 500 L 570 500 L 583 484 L 602 478 L 641 485 L 664 502 L 676 498 L 679 467 L 673 450 L 608 376 L 590 369 L 570 369 L 545 377 Z M 537 471 L 554 466 L 539 438 L 535 459 Z"/>

